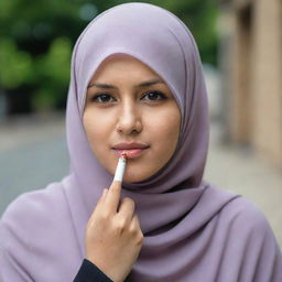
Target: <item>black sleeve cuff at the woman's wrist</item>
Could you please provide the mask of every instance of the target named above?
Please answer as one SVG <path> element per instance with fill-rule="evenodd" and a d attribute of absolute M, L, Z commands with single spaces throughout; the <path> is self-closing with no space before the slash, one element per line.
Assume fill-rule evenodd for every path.
<path fill-rule="evenodd" d="M 84 259 L 83 264 L 73 282 L 113 282 L 89 260 Z"/>

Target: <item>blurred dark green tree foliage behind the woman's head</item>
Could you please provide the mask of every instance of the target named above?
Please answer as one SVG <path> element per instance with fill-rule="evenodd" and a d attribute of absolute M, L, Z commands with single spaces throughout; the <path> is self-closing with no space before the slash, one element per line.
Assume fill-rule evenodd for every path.
<path fill-rule="evenodd" d="M 12 105 L 10 111 L 64 107 L 76 39 L 98 13 L 123 2 L 130 1 L 1 0 L 0 90 Z M 140 2 L 151 2 L 177 14 L 192 30 L 203 61 L 215 64 L 215 1 Z M 13 102 L 15 98 L 18 102 Z"/>

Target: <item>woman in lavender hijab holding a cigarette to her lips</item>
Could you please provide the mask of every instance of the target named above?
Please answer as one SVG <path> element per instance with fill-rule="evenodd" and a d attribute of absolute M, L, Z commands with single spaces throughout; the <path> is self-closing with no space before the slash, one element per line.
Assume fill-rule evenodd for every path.
<path fill-rule="evenodd" d="M 87 26 L 73 53 L 66 127 L 70 174 L 2 217 L 4 282 L 282 281 L 262 214 L 202 180 L 207 95 L 175 15 L 128 3 Z M 121 153 L 122 185 L 112 182 Z"/>

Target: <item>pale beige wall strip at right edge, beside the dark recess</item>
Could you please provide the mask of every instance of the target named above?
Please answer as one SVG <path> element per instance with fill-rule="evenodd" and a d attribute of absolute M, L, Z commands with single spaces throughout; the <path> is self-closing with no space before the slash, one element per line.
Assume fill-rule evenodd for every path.
<path fill-rule="evenodd" d="M 282 2 L 257 2 L 251 82 L 256 120 L 252 143 L 282 164 Z"/>

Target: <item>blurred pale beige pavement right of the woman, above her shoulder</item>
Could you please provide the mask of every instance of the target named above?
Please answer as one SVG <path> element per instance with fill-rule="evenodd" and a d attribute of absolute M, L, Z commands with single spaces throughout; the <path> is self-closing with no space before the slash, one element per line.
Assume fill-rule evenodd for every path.
<path fill-rule="evenodd" d="M 247 149 L 221 144 L 220 133 L 214 122 L 205 180 L 257 204 L 282 248 L 282 171 Z"/>

